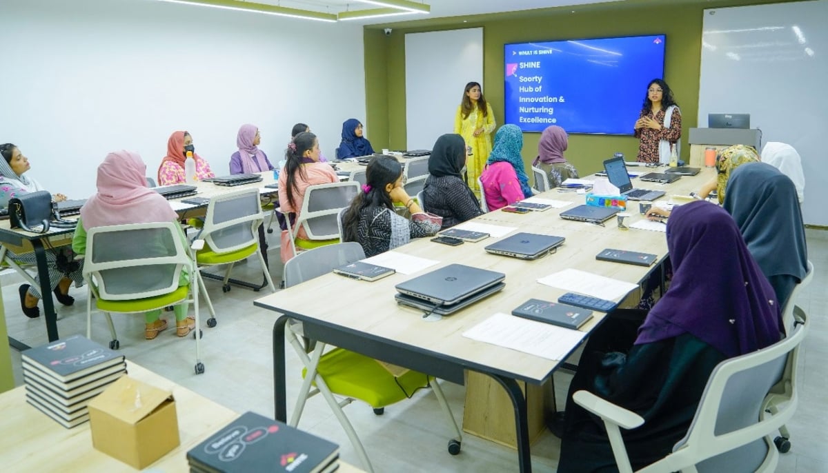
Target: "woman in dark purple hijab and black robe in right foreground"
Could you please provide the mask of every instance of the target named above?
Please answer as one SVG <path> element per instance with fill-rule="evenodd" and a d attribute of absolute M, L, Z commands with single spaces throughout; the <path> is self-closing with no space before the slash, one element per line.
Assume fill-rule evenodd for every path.
<path fill-rule="evenodd" d="M 670 289 L 643 325 L 605 318 L 585 346 L 566 402 L 558 471 L 616 471 L 604 424 L 572 402 L 587 389 L 646 421 L 623 431 L 633 469 L 672 451 L 721 361 L 779 341 L 780 304 L 723 208 L 682 205 L 667 223 Z"/>

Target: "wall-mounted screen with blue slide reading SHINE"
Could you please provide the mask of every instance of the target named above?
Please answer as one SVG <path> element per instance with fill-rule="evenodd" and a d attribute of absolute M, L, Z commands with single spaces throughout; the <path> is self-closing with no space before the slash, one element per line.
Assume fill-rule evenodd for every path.
<path fill-rule="evenodd" d="M 505 45 L 506 123 L 523 131 L 540 132 L 558 125 L 569 133 L 632 135 L 647 84 L 664 76 L 664 41 L 664 35 L 656 35 Z M 552 53 L 535 53 L 541 50 Z M 540 62 L 540 69 L 521 67 L 527 62 Z M 537 76 L 542 77 L 540 83 L 520 80 Z M 540 92 L 535 91 L 538 86 Z M 521 87 L 531 87 L 532 92 L 521 92 Z M 542 97 L 558 102 L 519 101 Z M 553 112 L 521 112 L 521 107 Z M 520 117 L 556 122 L 520 122 Z"/>

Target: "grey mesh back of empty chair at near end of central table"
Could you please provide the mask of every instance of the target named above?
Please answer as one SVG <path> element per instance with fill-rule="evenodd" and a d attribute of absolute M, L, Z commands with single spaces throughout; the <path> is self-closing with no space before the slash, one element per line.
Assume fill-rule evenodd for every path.
<path fill-rule="evenodd" d="M 285 287 L 289 288 L 328 274 L 338 266 L 362 260 L 364 257 L 362 246 L 354 241 L 303 251 L 285 263 Z"/>

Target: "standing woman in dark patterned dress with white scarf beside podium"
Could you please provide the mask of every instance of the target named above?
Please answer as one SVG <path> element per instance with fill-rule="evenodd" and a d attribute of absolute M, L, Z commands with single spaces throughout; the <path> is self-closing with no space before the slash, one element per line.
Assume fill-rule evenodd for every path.
<path fill-rule="evenodd" d="M 652 79 L 647 85 L 634 128 L 639 139 L 638 162 L 667 164 L 670 147 L 677 146 L 681 138 L 681 111 L 672 98 L 670 86 L 662 79 Z"/>

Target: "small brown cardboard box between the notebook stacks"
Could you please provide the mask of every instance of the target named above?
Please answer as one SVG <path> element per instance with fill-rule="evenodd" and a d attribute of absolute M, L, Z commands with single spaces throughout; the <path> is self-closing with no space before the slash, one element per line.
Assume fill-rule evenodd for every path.
<path fill-rule="evenodd" d="M 122 376 L 89 403 L 92 445 L 142 470 L 181 443 L 172 393 Z"/>

